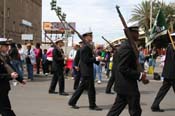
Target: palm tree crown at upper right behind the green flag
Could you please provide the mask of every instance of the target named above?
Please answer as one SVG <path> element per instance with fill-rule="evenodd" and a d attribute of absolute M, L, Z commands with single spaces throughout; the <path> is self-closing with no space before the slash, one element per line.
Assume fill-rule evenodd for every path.
<path fill-rule="evenodd" d="M 140 4 L 136 5 L 132 11 L 132 17 L 129 22 L 138 22 L 140 27 L 149 35 L 150 29 L 150 1 L 142 1 Z M 156 0 L 153 1 L 153 18 L 152 23 L 154 22 L 156 15 L 160 8 L 163 9 L 166 23 L 168 28 L 173 31 L 173 25 L 175 24 L 175 3 L 170 3 L 167 5 L 165 2 L 157 2 Z M 153 24 L 152 24 L 153 25 Z"/>

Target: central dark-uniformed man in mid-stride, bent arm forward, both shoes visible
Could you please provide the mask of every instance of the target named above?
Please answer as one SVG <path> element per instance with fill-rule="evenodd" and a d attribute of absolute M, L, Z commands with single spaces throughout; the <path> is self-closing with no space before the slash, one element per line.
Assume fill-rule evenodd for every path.
<path fill-rule="evenodd" d="M 93 57 L 92 32 L 83 34 L 83 38 L 86 41 L 86 44 L 81 48 L 80 51 L 80 72 L 82 76 L 82 81 L 79 87 L 73 93 L 68 104 L 72 106 L 72 108 L 78 109 L 79 107 L 76 106 L 76 103 L 83 91 L 87 88 L 89 98 L 89 109 L 102 110 L 95 103 L 96 93 L 93 77 L 93 63 L 97 63 L 98 61 L 100 61 L 101 57 Z"/>

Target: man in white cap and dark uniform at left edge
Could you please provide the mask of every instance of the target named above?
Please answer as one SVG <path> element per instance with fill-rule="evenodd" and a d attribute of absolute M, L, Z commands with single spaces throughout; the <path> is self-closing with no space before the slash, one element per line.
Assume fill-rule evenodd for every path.
<path fill-rule="evenodd" d="M 0 114 L 2 116 L 16 116 L 11 109 L 8 97 L 10 90 L 9 81 L 16 79 L 22 84 L 26 83 L 22 78 L 18 78 L 17 72 L 15 72 L 10 65 L 9 56 L 7 54 L 10 44 L 11 41 L 6 38 L 0 38 Z"/>

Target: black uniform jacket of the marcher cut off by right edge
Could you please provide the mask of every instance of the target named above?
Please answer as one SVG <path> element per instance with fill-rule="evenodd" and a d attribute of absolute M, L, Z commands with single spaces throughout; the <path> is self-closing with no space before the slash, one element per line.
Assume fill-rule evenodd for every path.
<path fill-rule="evenodd" d="M 175 79 L 175 50 L 171 44 L 167 48 L 162 76 L 167 79 Z"/>

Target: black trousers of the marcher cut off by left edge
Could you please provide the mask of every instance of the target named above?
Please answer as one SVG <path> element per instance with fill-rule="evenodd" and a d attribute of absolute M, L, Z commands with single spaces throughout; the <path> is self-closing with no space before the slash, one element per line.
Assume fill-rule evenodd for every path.
<path fill-rule="evenodd" d="M 0 93 L 0 114 L 2 116 L 16 116 L 11 109 L 8 91 L 2 90 Z"/>

